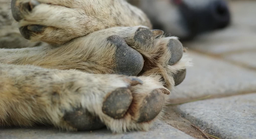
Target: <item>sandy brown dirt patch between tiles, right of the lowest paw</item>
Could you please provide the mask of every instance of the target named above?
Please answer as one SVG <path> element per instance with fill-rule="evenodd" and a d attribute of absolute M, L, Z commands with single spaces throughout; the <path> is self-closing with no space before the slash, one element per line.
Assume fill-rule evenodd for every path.
<path fill-rule="evenodd" d="M 195 127 L 191 126 L 191 122 L 184 119 L 180 114 L 175 112 L 176 106 L 168 106 L 166 108 L 166 113 L 164 114 L 164 122 L 174 128 L 185 132 L 186 134 L 193 136 L 198 139 L 205 139 L 202 133 L 198 131 Z"/>

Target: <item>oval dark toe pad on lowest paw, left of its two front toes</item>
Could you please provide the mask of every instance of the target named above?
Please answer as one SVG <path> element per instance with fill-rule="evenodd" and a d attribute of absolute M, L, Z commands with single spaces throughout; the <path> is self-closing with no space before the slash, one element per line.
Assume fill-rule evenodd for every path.
<path fill-rule="evenodd" d="M 128 88 L 116 89 L 106 97 L 102 111 L 114 119 L 120 119 L 129 109 L 132 98 L 132 93 Z"/>

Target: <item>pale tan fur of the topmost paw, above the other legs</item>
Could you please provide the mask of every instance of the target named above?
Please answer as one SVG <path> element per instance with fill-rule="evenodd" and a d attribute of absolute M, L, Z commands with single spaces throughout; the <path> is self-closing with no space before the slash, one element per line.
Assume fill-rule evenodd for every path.
<path fill-rule="evenodd" d="M 24 0 L 17 1 L 19 2 Z M 25 14 L 24 19 L 18 24 L 18 26 L 33 24 L 48 26 L 44 33 L 34 34 L 31 37 L 33 41 L 63 44 L 73 38 L 110 27 L 138 25 L 151 27 L 149 19 L 141 10 L 123 0 L 40 0 L 40 2 L 55 5 L 36 6 L 35 12 Z"/>

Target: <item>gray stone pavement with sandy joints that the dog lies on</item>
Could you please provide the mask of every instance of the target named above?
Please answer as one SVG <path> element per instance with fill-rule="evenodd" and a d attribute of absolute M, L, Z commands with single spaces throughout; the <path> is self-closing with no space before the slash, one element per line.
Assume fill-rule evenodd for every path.
<path fill-rule="evenodd" d="M 1 129 L 0 139 L 204 138 L 200 132 L 195 136 L 190 124 L 221 139 L 256 139 L 256 1 L 230 4 L 233 23 L 229 28 L 184 43 L 194 66 L 187 69 L 186 79 L 170 95 L 169 102 L 176 105 L 168 106 L 167 113 L 176 116 L 166 114 L 166 123 L 156 123 L 149 132 L 126 134 L 112 134 L 106 129 L 78 133 L 47 128 Z M 205 96 L 209 99 L 179 104 Z M 188 132 L 178 121 L 184 122 Z"/>

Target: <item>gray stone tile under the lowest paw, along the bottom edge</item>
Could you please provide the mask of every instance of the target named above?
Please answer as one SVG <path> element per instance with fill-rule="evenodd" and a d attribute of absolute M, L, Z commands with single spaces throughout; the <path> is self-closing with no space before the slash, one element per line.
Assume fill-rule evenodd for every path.
<path fill-rule="evenodd" d="M 158 122 L 148 132 L 112 134 L 106 129 L 93 132 L 59 132 L 53 129 L 1 129 L 1 139 L 195 139 L 174 127 Z"/>

